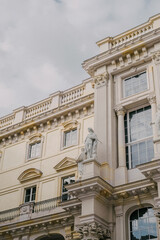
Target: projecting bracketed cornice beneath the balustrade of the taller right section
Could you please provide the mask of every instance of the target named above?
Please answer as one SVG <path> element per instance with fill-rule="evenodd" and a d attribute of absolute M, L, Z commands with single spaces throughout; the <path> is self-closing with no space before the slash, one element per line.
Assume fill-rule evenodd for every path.
<path fill-rule="evenodd" d="M 134 40 L 130 40 L 126 44 L 121 44 L 118 47 L 115 47 L 106 52 L 100 53 L 84 61 L 82 66 L 91 76 L 94 75 L 94 72 L 98 67 L 103 66 L 104 64 L 105 65 L 112 64 L 113 71 L 115 71 L 114 61 L 118 60 L 120 62 L 121 67 L 125 67 L 125 64 L 123 63 L 124 56 L 126 56 L 126 58 L 128 59 L 128 64 L 130 64 L 132 62 L 130 58 L 131 53 L 136 56 L 137 55 L 136 51 L 137 50 L 139 51 L 140 49 L 143 52 L 143 58 L 145 57 L 145 60 L 149 60 L 152 57 L 148 56 L 147 58 L 146 49 L 153 46 L 156 42 L 158 42 L 159 38 L 160 38 L 160 28 L 157 28 L 150 31 L 149 33 L 144 34 L 141 37 L 137 37 Z"/>

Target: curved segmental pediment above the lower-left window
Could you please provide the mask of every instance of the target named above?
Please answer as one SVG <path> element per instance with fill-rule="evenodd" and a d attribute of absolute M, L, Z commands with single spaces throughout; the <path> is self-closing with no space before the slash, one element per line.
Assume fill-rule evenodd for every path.
<path fill-rule="evenodd" d="M 36 168 L 29 168 L 25 170 L 21 175 L 18 177 L 18 180 L 23 183 L 26 181 L 33 180 L 35 178 L 40 178 L 42 176 L 42 172 Z"/>

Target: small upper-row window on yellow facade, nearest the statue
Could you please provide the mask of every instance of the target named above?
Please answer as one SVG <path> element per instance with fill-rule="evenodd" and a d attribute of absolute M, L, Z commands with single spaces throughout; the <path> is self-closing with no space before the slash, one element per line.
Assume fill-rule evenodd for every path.
<path fill-rule="evenodd" d="M 64 147 L 69 147 L 77 144 L 77 128 L 64 132 Z"/>

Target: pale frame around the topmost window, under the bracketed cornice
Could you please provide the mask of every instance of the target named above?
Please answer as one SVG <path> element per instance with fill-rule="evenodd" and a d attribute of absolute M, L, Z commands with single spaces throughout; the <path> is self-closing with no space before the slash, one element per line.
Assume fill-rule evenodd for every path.
<path fill-rule="evenodd" d="M 146 89 L 143 89 L 142 91 L 140 92 L 137 92 L 137 93 L 133 93 L 131 95 L 128 95 L 128 96 L 125 96 L 125 80 L 129 80 L 131 79 L 132 77 L 135 77 L 137 75 L 141 75 L 143 73 L 146 73 L 146 84 L 147 84 L 147 88 Z M 129 97 L 132 97 L 132 96 L 135 96 L 137 94 L 140 94 L 140 93 L 143 93 L 143 92 L 146 92 L 147 90 L 149 90 L 149 81 L 148 81 L 148 72 L 147 72 L 147 69 L 145 70 L 141 70 L 141 71 L 136 71 L 134 74 L 130 74 L 128 77 L 123 77 L 122 79 L 122 98 L 123 99 L 126 99 L 126 98 L 129 98 Z"/>

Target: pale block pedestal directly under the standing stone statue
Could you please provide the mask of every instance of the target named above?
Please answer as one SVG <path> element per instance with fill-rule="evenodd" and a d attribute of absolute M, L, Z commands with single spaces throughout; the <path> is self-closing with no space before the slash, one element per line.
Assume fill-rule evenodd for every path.
<path fill-rule="evenodd" d="M 84 160 L 82 180 L 100 176 L 100 166 L 101 164 L 96 159 L 90 158 Z"/>

